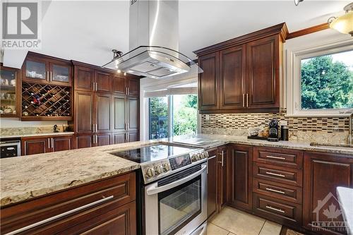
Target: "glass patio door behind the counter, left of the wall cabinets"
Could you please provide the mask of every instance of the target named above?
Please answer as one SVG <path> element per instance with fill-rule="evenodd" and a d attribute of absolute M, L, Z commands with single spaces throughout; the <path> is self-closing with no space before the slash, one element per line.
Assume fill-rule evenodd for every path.
<path fill-rule="evenodd" d="M 149 98 L 149 138 L 196 134 L 197 95 L 167 95 Z"/>

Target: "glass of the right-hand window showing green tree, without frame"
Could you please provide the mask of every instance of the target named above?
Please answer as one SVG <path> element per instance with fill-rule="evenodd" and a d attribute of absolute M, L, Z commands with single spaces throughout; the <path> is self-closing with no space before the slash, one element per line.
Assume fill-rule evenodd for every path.
<path fill-rule="evenodd" d="M 301 59 L 301 109 L 353 108 L 353 50 Z"/>

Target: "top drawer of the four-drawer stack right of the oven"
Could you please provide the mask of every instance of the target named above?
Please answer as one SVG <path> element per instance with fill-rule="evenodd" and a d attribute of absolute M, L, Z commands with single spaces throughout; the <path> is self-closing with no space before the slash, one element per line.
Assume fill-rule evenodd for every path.
<path fill-rule="evenodd" d="M 274 147 L 254 147 L 253 161 L 283 167 L 303 167 L 303 152 Z"/>

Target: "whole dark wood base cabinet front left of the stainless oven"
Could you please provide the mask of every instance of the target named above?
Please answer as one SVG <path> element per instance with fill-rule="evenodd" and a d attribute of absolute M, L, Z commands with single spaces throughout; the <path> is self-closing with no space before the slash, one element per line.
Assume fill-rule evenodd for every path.
<path fill-rule="evenodd" d="M 131 172 L 1 207 L 1 233 L 136 235 L 135 182 Z"/>

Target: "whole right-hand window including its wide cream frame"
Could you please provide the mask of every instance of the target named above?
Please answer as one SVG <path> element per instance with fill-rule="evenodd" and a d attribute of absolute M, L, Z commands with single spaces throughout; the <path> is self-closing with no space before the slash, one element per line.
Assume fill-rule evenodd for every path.
<path fill-rule="evenodd" d="M 287 47 L 288 116 L 347 116 L 353 110 L 351 39 L 298 50 Z M 286 96 L 287 95 L 287 96 Z"/>

